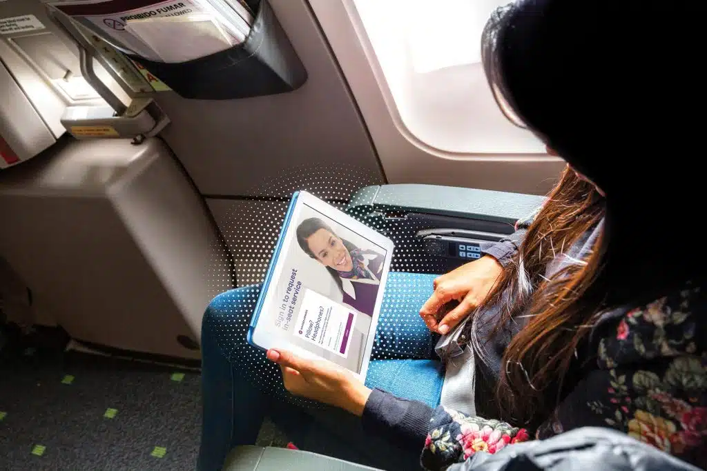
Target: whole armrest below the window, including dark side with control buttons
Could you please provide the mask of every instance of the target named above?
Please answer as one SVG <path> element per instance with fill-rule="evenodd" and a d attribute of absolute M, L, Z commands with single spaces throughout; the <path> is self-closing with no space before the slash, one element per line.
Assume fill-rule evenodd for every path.
<path fill-rule="evenodd" d="M 452 186 L 380 185 L 357 191 L 346 212 L 392 239 L 393 269 L 445 273 L 479 258 L 544 201 Z"/>

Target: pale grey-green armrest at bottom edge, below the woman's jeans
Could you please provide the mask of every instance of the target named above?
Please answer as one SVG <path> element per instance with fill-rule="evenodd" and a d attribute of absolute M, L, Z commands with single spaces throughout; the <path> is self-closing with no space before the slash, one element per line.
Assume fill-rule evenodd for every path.
<path fill-rule="evenodd" d="M 226 458 L 223 471 L 376 471 L 329 456 L 287 448 L 237 446 Z"/>

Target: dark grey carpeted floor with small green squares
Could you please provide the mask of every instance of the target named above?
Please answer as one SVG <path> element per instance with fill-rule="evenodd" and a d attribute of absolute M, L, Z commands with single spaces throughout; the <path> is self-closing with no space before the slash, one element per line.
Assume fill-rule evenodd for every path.
<path fill-rule="evenodd" d="M 0 470 L 194 470 L 199 374 L 24 348 L 0 359 Z"/>

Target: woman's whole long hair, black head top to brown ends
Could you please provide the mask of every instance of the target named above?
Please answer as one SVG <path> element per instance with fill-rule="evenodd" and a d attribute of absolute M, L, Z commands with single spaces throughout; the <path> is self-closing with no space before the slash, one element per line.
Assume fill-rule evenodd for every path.
<path fill-rule="evenodd" d="M 703 251 L 693 260 L 686 260 L 692 253 L 659 256 L 655 240 L 641 233 L 656 208 L 670 203 L 660 223 L 680 227 L 703 201 L 694 197 L 701 175 L 684 167 L 703 122 L 689 116 L 691 109 L 707 104 L 694 70 L 703 44 L 698 5 L 520 0 L 486 25 L 482 61 L 499 105 L 606 193 L 605 224 L 592 253 L 544 280 L 554 256 L 549 249 L 571 244 L 602 211 L 582 198 L 576 176 L 566 171 L 489 295 L 488 302 L 499 302 L 503 290 L 519 297 L 496 331 L 519 306 L 530 314 L 503 354 L 497 400 L 504 419 L 534 428 L 551 414 L 602 309 L 649 302 L 703 270 Z M 669 46 L 675 37 L 679 47 Z M 650 58 L 658 51 L 686 73 L 656 66 Z M 670 159 L 645 162 L 656 155 Z"/>

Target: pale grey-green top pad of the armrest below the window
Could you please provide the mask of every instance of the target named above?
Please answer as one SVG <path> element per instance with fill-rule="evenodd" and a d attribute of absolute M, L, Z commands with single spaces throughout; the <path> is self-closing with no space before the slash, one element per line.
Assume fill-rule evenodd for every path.
<path fill-rule="evenodd" d="M 513 225 L 545 201 L 544 196 L 421 184 L 366 186 L 351 198 L 349 212 L 403 211 Z"/>

